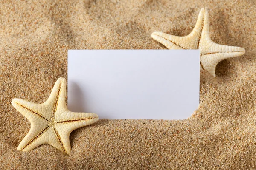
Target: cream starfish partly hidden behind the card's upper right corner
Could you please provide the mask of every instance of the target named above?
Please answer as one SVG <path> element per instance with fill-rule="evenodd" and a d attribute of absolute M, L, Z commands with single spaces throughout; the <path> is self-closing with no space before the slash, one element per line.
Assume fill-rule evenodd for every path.
<path fill-rule="evenodd" d="M 205 8 L 201 9 L 195 28 L 189 35 L 178 37 L 162 32 L 153 32 L 151 36 L 169 49 L 199 49 L 200 69 L 208 71 L 214 77 L 216 77 L 215 68 L 218 62 L 245 53 L 244 48 L 220 45 L 211 40 L 208 11 Z"/>

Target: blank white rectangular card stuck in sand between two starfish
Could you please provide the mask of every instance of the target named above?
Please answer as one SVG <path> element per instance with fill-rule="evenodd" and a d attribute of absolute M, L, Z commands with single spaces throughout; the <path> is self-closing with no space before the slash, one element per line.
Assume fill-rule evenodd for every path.
<path fill-rule="evenodd" d="M 199 50 L 68 50 L 68 109 L 99 119 L 187 119 Z"/>

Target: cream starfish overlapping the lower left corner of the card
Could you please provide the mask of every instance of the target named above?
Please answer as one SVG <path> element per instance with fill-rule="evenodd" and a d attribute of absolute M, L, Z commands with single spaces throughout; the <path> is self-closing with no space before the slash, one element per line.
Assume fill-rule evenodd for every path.
<path fill-rule="evenodd" d="M 50 144 L 69 154 L 70 133 L 98 120 L 95 113 L 71 112 L 66 106 L 66 79 L 59 78 L 46 102 L 37 104 L 22 99 L 13 99 L 12 105 L 29 119 L 31 129 L 18 146 L 29 151 L 41 144 Z"/>

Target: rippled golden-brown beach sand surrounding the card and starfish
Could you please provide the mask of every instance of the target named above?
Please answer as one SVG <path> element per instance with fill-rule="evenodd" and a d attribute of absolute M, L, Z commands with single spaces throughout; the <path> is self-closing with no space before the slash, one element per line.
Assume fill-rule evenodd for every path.
<path fill-rule="evenodd" d="M 217 78 L 201 72 L 189 119 L 101 119 L 71 133 L 70 155 L 17 150 L 30 123 L 12 99 L 44 102 L 67 78 L 68 49 L 166 49 L 151 33 L 189 34 L 203 7 L 212 40 L 246 53 L 220 62 Z M 254 0 L 1 1 L 0 169 L 256 169 L 255 9 Z"/>

